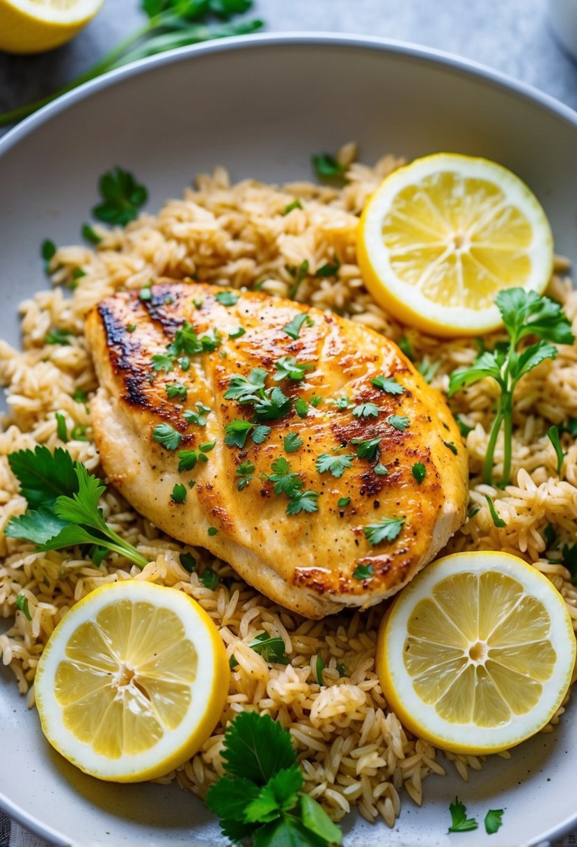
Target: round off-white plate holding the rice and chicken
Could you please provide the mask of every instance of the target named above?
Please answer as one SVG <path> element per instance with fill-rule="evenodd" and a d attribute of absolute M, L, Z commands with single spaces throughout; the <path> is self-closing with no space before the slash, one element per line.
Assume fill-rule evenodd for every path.
<path fill-rule="evenodd" d="M 577 259 L 577 116 L 511 80 L 407 45 L 343 36 L 253 36 L 153 58 L 75 91 L 0 141 L 0 336 L 17 303 L 47 286 L 39 246 L 79 241 L 99 174 L 115 164 L 149 186 L 156 210 L 202 170 L 234 180 L 309 178 L 310 154 L 360 143 L 364 161 L 448 150 L 497 159 L 543 203 L 558 252 Z M 536 844 L 577 825 L 577 706 L 558 730 L 489 761 L 469 783 L 430 777 L 404 797 L 393 832 L 344 824 L 346 843 L 475 847 L 447 834 L 455 794 L 480 821 L 505 808 L 492 847 Z M 451 766 L 448 772 L 452 774 Z M 214 819 L 173 786 L 99 783 L 63 761 L 0 673 L 0 805 L 57 844 L 217 844 Z"/>

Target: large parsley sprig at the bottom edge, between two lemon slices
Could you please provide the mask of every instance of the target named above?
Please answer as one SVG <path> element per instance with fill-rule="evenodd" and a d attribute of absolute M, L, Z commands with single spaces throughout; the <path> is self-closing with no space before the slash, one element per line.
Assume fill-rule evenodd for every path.
<path fill-rule="evenodd" d="M 338 826 L 302 793 L 303 774 L 280 723 L 241 712 L 224 735 L 223 761 L 226 774 L 208 789 L 206 805 L 234 844 L 249 838 L 258 847 L 342 844 Z"/>

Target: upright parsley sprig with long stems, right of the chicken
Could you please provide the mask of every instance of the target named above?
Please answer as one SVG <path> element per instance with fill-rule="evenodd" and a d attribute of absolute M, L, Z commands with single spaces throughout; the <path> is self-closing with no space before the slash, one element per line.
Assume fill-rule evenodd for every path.
<path fill-rule="evenodd" d="M 546 359 L 557 357 L 554 344 L 572 344 L 574 335 L 563 308 L 550 297 L 541 297 L 535 291 L 510 288 L 499 291 L 495 298 L 509 340 L 497 344 L 493 352 L 483 351 L 470 368 L 453 371 L 449 379 L 449 396 L 456 391 L 474 385 L 480 379 L 492 377 L 501 394 L 497 401 L 497 413 L 492 423 L 483 465 L 483 479 L 492 484 L 493 463 L 497 436 L 503 427 L 503 479 L 508 485 L 511 476 L 513 442 L 513 394 L 515 387 L 525 374 Z M 535 344 L 519 351 L 519 342 L 527 335 L 536 335 Z"/>

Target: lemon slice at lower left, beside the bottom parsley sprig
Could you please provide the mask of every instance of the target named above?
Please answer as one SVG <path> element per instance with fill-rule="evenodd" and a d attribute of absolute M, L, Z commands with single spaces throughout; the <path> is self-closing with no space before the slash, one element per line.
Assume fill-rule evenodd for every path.
<path fill-rule="evenodd" d="M 194 756 L 228 694 L 217 628 L 183 591 L 103 585 L 63 617 L 36 673 L 42 731 L 86 773 L 162 777 Z"/>

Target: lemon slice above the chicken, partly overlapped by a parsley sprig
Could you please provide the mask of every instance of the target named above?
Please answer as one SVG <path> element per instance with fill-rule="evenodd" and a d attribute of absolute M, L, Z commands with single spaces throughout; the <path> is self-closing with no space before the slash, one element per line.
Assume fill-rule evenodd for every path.
<path fill-rule="evenodd" d="M 358 261 L 376 302 L 433 335 L 502 323 L 495 296 L 545 291 L 551 227 L 536 197 L 483 158 L 438 153 L 393 171 L 360 219 Z"/>

